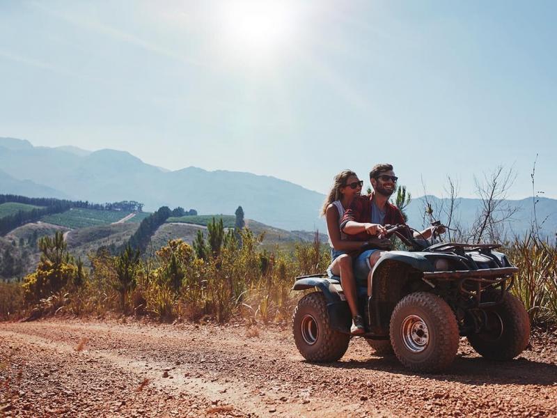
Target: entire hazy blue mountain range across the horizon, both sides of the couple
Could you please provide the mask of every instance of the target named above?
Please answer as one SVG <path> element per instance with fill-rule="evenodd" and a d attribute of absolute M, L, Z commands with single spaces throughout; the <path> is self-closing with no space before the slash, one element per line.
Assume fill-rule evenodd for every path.
<path fill-rule="evenodd" d="M 271 176 L 238 171 L 206 171 L 187 167 L 168 171 L 146 164 L 125 151 L 87 151 L 73 146 L 33 146 L 29 141 L 0 137 L 0 193 L 58 197 L 98 203 L 135 200 L 145 210 L 160 206 L 194 208 L 200 214 L 233 214 L 242 206 L 246 217 L 287 230 L 325 231 L 318 210 L 324 195 Z M 433 216 L 445 220 L 440 210 L 446 199 L 421 196 L 406 209 L 409 224 L 423 224 L 425 201 Z M 479 199 L 459 198 L 456 219 L 469 226 L 481 207 Z M 533 199 L 510 200 L 517 208 L 508 233 L 522 234 L 531 227 Z M 542 233 L 557 231 L 557 200 L 538 198 L 536 213 L 544 221 Z"/>

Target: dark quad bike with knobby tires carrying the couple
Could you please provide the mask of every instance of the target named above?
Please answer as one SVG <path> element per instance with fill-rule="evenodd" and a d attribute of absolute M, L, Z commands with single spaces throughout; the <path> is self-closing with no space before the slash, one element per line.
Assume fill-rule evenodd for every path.
<path fill-rule="evenodd" d="M 486 359 L 517 357 L 528 345 L 530 322 L 524 305 L 509 293 L 518 268 L 496 244 L 436 242 L 411 238 L 407 225 L 388 225 L 409 251 L 386 251 L 372 269 L 371 295 L 356 279 L 359 311 L 377 353 L 394 351 L 407 368 L 446 369 L 460 336 Z M 419 233 L 418 233 L 419 234 Z M 352 315 L 340 278 L 296 277 L 292 290 L 316 288 L 299 300 L 292 318 L 296 346 L 310 362 L 335 362 L 350 343 Z M 391 351 L 391 352 L 392 352 Z"/>

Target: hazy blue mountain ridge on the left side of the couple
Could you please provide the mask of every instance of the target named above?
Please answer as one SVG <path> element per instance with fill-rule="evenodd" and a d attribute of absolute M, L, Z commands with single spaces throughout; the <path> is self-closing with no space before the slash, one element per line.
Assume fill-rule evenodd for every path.
<path fill-rule="evenodd" d="M 195 167 L 164 171 L 124 151 L 76 153 L 13 138 L 0 138 L 0 167 L 14 179 L 60 190 L 68 199 L 127 199 L 145 203 L 145 210 L 182 206 L 199 213 L 234 213 L 242 206 L 247 217 L 278 228 L 324 231 L 317 216 L 324 196 L 270 176 Z"/>

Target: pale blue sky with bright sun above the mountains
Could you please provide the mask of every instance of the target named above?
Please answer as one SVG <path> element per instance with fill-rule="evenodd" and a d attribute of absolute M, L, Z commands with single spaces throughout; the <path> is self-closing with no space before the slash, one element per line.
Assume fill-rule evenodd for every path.
<path fill-rule="evenodd" d="M 325 193 L 557 198 L 555 1 L 0 1 L 0 137 Z M 536 157 L 538 155 L 538 157 Z"/>

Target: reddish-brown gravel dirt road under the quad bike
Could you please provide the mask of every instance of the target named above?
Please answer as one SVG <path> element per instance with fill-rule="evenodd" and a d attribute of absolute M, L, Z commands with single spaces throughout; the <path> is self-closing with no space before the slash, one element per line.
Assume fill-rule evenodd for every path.
<path fill-rule="evenodd" d="M 0 416 L 557 416 L 557 348 L 507 363 L 462 340 L 448 374 L 406 371 L 354 339 L 308 364 L 289 329 L 50 320 L 0 323 Z"/>

